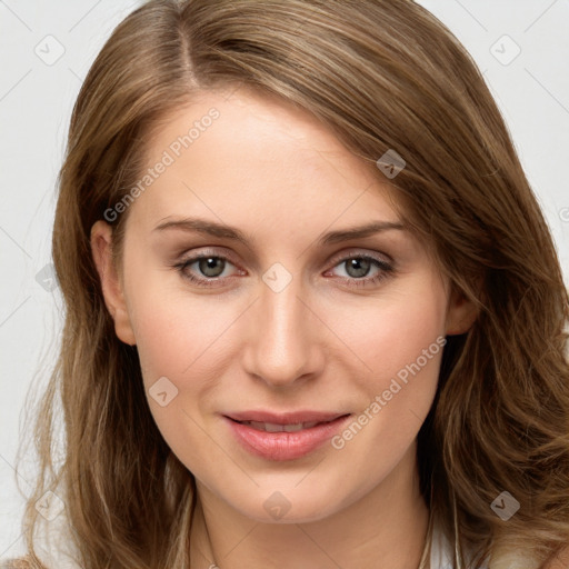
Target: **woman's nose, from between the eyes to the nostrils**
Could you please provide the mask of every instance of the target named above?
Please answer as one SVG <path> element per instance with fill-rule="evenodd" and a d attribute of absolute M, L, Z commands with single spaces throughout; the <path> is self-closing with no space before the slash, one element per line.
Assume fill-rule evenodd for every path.
<path fill-rule="evenodd" d="M 321 373 L 325 326 L 302 297 L 300 279 L 279 292 L 263 281 L 248 316 L 246 371 L 271 387 L 290 387 Z"/>

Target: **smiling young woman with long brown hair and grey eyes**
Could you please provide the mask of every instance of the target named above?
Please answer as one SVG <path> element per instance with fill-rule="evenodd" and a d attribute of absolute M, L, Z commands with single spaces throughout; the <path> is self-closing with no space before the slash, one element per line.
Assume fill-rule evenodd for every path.
<path fill-rule="evenodd" d="M 79 94 L 53 257 L 31 567 L 569 566 L 567 291 L 421 7 L 146 3 Z"/>

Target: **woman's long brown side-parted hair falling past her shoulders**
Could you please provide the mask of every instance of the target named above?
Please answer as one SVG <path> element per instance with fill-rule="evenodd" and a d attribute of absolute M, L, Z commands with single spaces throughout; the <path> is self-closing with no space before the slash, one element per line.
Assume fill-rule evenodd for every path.
<path fill-rule="evenodd" d="M 472 567 L 512 550 L 546 567 L 569 541 L 569 298 L 480 72 L 410 0 L 150 0 L 107 41 L 59 177 L 53 260 L 66 321 L 36 427 L 30 558 L 39 562 L 36 500 L 58 489 L 86 569 L 188 567 L 194 481 L 154 425 L 137 348 L 114 333 L 89 238 L 137 183 L 164 117 L 199 90 L 239 84 L 308 110 L 362 164 L 390 149 L 406 160 L 390 180 L 401 216 L 479 309 L 467 333 L 448 338 L 419 433 L 425 499 L 457 558 L 475 548 Z M 128 212 L 113 222 L 118 262 Z M 503 491 L 521 506 L 507 522 L 490 507 Z"/>

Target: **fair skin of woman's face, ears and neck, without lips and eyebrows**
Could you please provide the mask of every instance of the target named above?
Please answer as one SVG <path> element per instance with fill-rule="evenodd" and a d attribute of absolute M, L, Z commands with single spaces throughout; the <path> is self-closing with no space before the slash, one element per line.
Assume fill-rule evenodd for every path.
<path fill-rule="evenodd" d="M 137 345 L 147 395 L 161 377 L 178 389 L 164 407 L 148 402 L 197 480 L 197 567 L 418 567 L 428 509 L 416 437 L 442 350 L 342 448 L 327 441 L 300 458 L 256 456 L 223 416 L 318 410 L 352 421 L 437 338 L 468 330 L 473 308 L 450 293 L 426 246 L 405 228 L 319 242 L 330 231 L 400 222 L 396 193 L 288 104 L 244 89 L 227 100 L 201 92 L 152 138 L 148 166 L 211 107 L 219 119 L 129 207 L 118 270 L 110 227 L 99 221 L 91 232 L 107 307 L 119 339 Z M 247 242 L 154 229 L 186 217 L 237 228 Z M 212 287 L 172 267 L 198 253 L 217 264 L 207 272 L 192 261 L 183 273 Z M 383 264 L 372 260 L 358 273 L 348 254 Z M 273 263 L 291 277 L 279 291 L 262 278 Z M 288 503 L 279 519 L 266 508 L 274 492 Z"/>

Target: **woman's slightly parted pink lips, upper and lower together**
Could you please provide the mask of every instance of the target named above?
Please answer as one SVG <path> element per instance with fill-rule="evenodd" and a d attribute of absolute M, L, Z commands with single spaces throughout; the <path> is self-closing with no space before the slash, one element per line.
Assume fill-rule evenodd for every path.
<path fill-rule="evenodd" d="M 248 452 L 266 460 L 301 458 L 333 437 L 349 413 L 301 411 L 232 412 L 223 416 L 230 431 Z"/>

